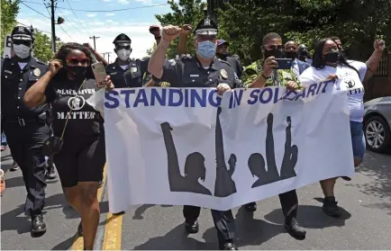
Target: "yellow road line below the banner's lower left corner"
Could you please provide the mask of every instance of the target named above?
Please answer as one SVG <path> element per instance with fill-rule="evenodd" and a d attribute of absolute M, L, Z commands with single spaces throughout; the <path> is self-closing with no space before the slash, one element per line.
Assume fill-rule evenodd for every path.
<path fill-rule="evenodd" d="M 102 250 L 121 250 L 123 234 L 123 214 L 107 214 L 105 238 Z"/>

